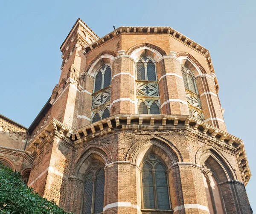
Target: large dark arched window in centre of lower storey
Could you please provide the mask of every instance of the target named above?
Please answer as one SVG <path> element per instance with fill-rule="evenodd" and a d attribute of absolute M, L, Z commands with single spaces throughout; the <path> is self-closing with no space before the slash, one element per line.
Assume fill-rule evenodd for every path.
<path fill-rule="evenodd" d="M 166 165 L 154 153 L 143 158 L 142 168 L 142 208 L 170 210 Z"/>

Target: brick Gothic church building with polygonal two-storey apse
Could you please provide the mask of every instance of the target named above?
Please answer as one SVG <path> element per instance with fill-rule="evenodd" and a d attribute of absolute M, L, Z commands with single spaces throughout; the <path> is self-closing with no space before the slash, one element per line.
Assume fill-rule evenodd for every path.
<path fill-rule="evenodd" d="M 75 214 L 251 214 L 209 51 L 170 27 L 99 38 L 78 19 L 27 129 L 0 115 L 0 162 Z M 57 81 L 57 80 L 56 80 Z"/>

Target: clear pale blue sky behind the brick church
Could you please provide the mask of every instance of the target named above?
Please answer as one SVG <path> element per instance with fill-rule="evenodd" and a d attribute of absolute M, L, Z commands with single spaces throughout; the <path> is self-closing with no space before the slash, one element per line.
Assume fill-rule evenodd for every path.
<path fill-rule="evenodd" d="M 171 26 L 209 49 L 228 132 L 244 140 L 256 211 L 256 1 L 1 1 L 1 114 L 29 127 L 58 84 L 59 47 L 78 17 L 99 37 L 113 25 Z"/>

